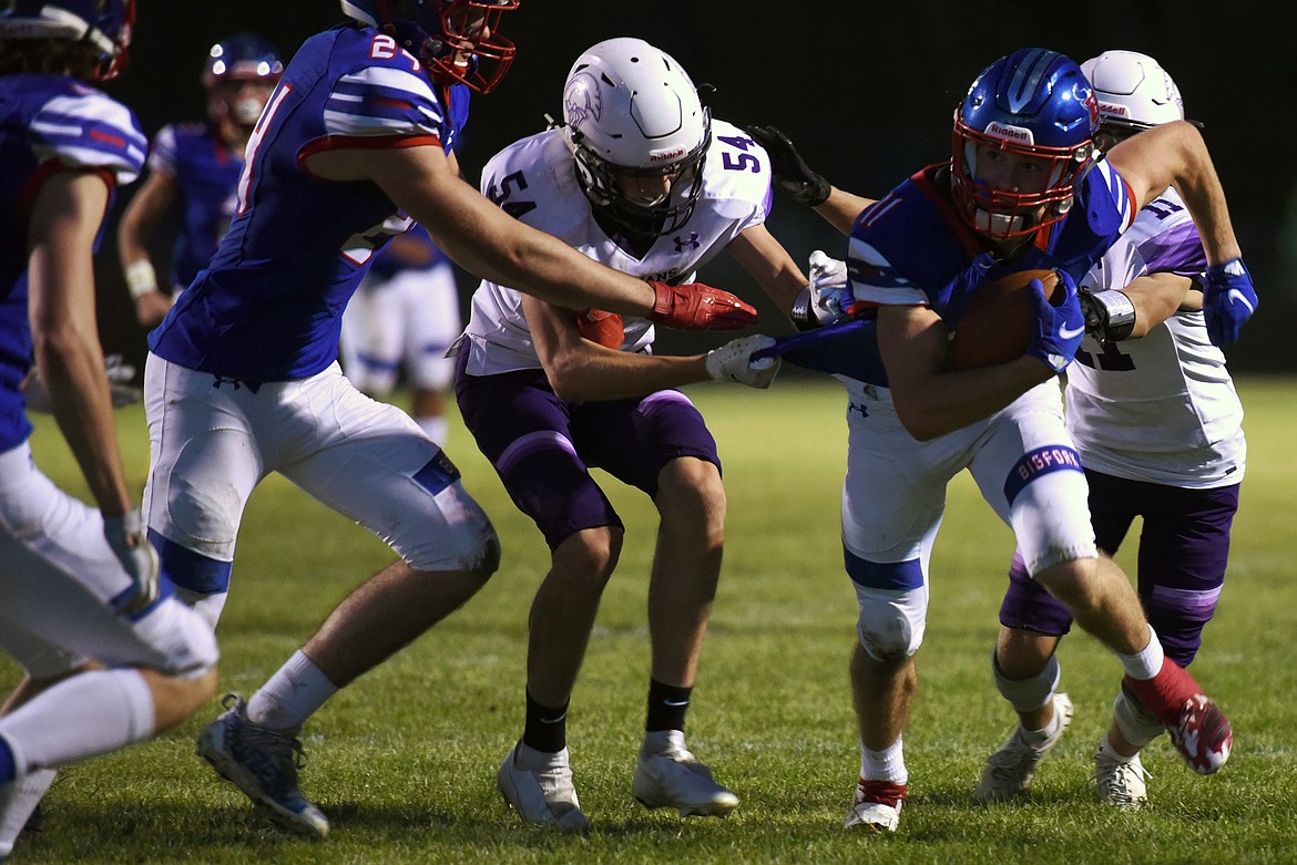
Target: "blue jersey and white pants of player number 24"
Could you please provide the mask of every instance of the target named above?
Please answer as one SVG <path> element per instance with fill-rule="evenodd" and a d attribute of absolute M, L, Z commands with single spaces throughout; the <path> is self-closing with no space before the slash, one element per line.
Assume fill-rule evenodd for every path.
<path fill-rule="evenodd" d="M 342 308 L 411 220 L 376 185 L 329 183 L 303 162 L 331 148 L 449 153 L 467 115 L 466 87 L 433 87 L 374 28 L 318 34 L 284 70 L 249 140 L 230 230 L 149 334 L 145 514 L 163 568 L 193 596 L 223 597 L 248 496 L 271 471 L 418 570 L 475 567 L 493 544 L 450 460 L 337 364 Z"/>

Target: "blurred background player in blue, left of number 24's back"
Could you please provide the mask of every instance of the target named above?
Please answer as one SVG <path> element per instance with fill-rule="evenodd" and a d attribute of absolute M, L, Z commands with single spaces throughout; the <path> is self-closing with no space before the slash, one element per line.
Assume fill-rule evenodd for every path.
<path fill-rule="evenodd" d="M 283 73 L 279 53 L 261 36 L 222 39 L 208 52 L 202 67 L 208 122 L 165 126 L 153 137 L 148 176 L 117 227 L 117 251 L 141 326 L 152 329 L 162 321 L 175 297 L 217 251 L 233 216 L 244 149 Z M 174 210 L 180 211 L 180 227 L 163 291 L 148 238 Z"/>

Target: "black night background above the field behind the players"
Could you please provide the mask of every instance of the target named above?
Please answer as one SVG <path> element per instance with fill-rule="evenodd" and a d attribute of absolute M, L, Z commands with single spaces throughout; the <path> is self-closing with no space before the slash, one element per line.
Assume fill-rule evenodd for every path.
<path fill-rule="evenodd" d="M 137 0 L 139 21 L 127 74 L 106 85 L 130 105 L 144 131 L 204 117 L 198 83 L 211 43 L 239 31 L 274 41 L 287 60 L 303 39 L 342 21 L 333 0 L 183 3 Z M 696 83 L 716 88 L 716 117 L 774 123 L 838 186 L 881 197 L 918 167 L 949 154 L 951 115 L 977 74 L 1027 45 L 1078 62 L 1108 48 L 1157 57 L 1184 95 L 1230 199 L 1261 311 L 1230 350 L 1235 370 L 1297 369 L 1283 322 L 1297 313 L 1297 91 L 1289 25 L 1249 3 L 1109 0 L 1040 3 L 982 0 L 524 0 L 505 18 L 518 60 L 499 89 L 475 102 L 459 149 L 477 171 L 502 146 L 559 114 L 567 70 L 585 48 L 612 36 L 639 36 L 673 54 Z M 1285 16 L 1287 17 L 1287 16 Z M 127 188 L 121 205 L 131 194 Z M 815 214 L 778 201 L 772 232 L 804 260 L 812 249 L 843 254 L 843 240 Z M 110 227 L 112 228 L 112 227 Z M 160 233 L 158 272 L 170 238 Z M 113 233 L 100 255 L 100 317 L 108 351 L 139 360 L 135 325 Z M 755 282 L 728 259 L 703 278 L 748 299 Z M 462 280 L 467 295 L 473 287 Z M 787 324 L 764 303 L 761 330 Z M 716 335 L 663 334 L 663 351 L 691 351 Z"/>

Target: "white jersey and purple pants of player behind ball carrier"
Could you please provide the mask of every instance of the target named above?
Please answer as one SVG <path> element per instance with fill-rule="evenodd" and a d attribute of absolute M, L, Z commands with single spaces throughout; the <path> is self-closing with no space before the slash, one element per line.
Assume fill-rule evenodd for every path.
<path fill-rule="evenodd" d="M 1205 267 L 1193 220 L 1169 189 L 1082 285 L 1119 290 L 1145 273 L 1196 277 Z M 1065 392 L 1099 546 L 1115 553 L 1143 517 L 1140 598 L 1166 654 L 1187 667 L 1224 583 L 1246 465 L 1243 405 L 1224 354 L 1208 339 L 1202 312 L 1182 309 L 1140 339 L 1101 346 L 1087 337 Z M 1067 610 L 1026 578 L 1021 559 L 1009 578 L 1003 624 L 1067 632 Z"/>

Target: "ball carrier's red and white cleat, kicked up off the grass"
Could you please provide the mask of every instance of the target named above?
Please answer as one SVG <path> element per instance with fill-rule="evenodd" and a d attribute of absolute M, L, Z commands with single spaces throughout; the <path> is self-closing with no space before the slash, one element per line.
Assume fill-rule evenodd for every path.
<path fill-rule="evenodd" d="M 1126 676 L 1122 681 L 1166 725 L 1171 743 L 1191 769 L 1211 774 L 1228 761 L 1233 747 L 1230 719 L 1183 667 L 1167 658 L 1153 679 Z"/>

